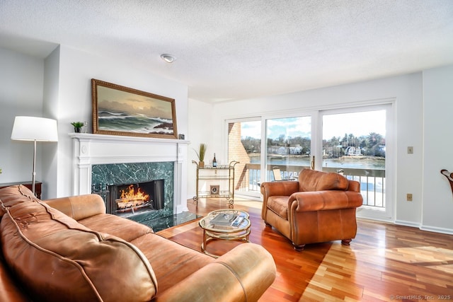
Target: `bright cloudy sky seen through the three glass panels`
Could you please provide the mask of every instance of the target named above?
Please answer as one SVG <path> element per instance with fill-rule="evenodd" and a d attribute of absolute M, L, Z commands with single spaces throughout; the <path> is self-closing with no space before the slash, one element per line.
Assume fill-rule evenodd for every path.
<path fill-rule="evenodd" d="M 323 116 L 323 139 L 344 137 L 354 134 L 361 137 L 376 132 L 385 136 L 385 110 L 352 112 Z M 241 137 L 260 138 L 261 122 L 242 122 Z M 277 139 L 281 134 L 286 137 L 309 137 L 310 117 L 287 117 L 268 120 L 268 137 Z"/>

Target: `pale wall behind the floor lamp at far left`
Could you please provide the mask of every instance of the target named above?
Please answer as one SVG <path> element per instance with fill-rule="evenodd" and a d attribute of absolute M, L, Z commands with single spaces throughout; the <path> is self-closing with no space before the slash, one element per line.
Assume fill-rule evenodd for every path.
<path fill-rule="evenodd" d="M 42 115 L 42 59 L 0 48 L 0 183 L 31 182 L 33 143 L 11 141 L 14 117 Z M 37 145 L 36 180 L 42 180 L 42 144 Z"/>

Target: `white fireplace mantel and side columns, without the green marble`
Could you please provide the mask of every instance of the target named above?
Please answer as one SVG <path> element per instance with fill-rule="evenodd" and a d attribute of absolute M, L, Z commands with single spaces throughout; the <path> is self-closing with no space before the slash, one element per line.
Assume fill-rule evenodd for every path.
<path fill-rule="evenodd" d="M 91 193 L 93 165 L 158 163 L 173 167 L 173 212 L 188 211 L 185 197 L 189 141 L 87 133 L 71 133 L 69 137 L 73 144 L 74 195 Z"/>

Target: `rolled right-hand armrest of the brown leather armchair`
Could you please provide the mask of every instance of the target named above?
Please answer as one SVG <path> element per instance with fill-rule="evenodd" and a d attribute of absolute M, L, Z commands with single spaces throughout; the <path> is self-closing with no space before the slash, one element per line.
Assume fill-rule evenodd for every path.
<path fill-rule="evenodd" d="M 352 209 L 362 205 L 363 197 L 358 192 L 340 190 L 297 192 L 289 197 L 288 209 L 294 209 L 293 202 L 297 203 L 297 212 Z"/>

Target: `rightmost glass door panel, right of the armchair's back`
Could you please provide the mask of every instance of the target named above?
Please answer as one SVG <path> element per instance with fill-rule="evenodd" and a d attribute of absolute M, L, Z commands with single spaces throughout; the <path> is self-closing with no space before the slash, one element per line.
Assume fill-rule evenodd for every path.
<path fill-rule="evenodd" d="M 321 111 L 321 170 L 360 182 L 362 209 L 391 217 L 386 175 L 389 106 Z M 391 156 L 391 155 L 390 155 Z M 369 211 L 369 210 L 372 210 Z"/>

